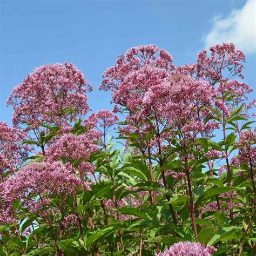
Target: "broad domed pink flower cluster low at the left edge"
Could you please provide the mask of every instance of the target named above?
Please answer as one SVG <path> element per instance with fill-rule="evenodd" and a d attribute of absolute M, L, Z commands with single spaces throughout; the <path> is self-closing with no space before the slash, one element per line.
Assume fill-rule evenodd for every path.
<path fill-rule="evenodd" d="M 80 185 L 80 179 L 60 162 L 31 163 L 1 184 L 1 214 L 11 217 L 14 201 L 21 199 L 30 212 L 40 211 L 44 215 L 44 207 L 49 204 L 52 193 L 67 197 Z M 6 223 L 7 220 L 2 221 Z"/>

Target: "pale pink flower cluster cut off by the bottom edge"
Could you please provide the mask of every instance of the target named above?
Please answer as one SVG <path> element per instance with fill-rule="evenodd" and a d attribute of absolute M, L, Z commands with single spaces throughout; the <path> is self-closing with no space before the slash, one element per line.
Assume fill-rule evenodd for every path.
<path fill-rule="evenodd" d="M 178 242 L 157 256 L 211 256 L 217 249 L 200 242 Z"/>

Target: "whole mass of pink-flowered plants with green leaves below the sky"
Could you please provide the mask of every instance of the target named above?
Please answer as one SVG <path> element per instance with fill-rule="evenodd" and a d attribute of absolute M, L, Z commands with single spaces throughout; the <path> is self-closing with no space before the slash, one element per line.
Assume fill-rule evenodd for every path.
<path fill-rule="evenodd" d="M 225 43 L 183 66 L 131 48 L 103 74 L 113 111 L 90 113 L 73 64 L 28 75 L 8 99 L 15 128 L 0 122 L 0 255 L 253 254 L 244 61 Z"/>

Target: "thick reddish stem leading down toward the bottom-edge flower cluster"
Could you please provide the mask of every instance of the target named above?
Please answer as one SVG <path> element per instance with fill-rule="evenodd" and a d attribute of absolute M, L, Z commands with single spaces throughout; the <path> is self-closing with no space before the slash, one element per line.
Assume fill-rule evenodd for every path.
<path fill-rule="evenodd" d="M 184 132 L 184 154 L 185 154 L 185 171 L 186 171 L 186 177 L 187 177 L 187 186 L 188 186 L 188 193 L 190 196 L 190 212 L 191 212 L 191 218 L 192 218 L 192 223 L 193 223 L 194 235 L 196 237 L 196 241 L 198 242 L 196 215 L 194 214 L 194 198 L 193 198 L 192 184 L 191 184 L 191 179 L 190 179 L 190 168 L 188 166 L 186 132 Z"/>

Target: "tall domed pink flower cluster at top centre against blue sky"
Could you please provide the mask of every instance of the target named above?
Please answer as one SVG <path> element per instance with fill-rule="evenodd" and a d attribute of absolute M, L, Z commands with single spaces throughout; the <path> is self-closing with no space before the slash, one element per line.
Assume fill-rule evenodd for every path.
<path fill-rule="evenodd" d="M 111 90 L 114 103 L 134 112 L 142 105 L 145 92 L 174 69 L 172 62 L 170 53 L 156 45 L 131 48 L 104 72 L 100 89 Z"/>

